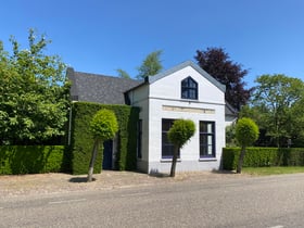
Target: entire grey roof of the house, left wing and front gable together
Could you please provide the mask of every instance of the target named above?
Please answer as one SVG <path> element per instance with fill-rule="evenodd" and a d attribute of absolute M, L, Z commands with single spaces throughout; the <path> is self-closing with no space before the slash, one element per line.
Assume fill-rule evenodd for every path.
<path fill-rule="evenodd" d="M 212 84 L 225 92 L 225 86 L 214 79 L 200 66 L 191 61 L 186 61 L 165 72 L 150 76 L 143 80 L 134 80 L 127 78 L 119 78 L 114 76 L 105 76 L 100 74 L 90 74 L 83 72 L 75 72 L 74 68 L 68 67 L 66 75 L 72 81 L 71 96 L 73 101 L 87 101 L 103 104 L 126 104 L 125 93 L 134 90 L 144 84 L 152 84 L 169 74 L 173 74 L 187 66 L 192 66 L 202 76 L 208 79 Z M 227 115 L 237 116 L 237 111 L 226 102 L 225 112 Z"/>

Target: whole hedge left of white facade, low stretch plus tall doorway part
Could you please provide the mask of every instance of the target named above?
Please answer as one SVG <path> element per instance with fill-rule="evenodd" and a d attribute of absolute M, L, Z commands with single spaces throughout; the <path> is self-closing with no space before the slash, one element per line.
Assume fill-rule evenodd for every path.
<path fill-rule="evenodd" d="M 117 116 L 117 154 L 115 168 L 132 170 L 137 166 L 137 123 L 139 110 L 128 105 L 104 105 L 76 102 L 73 104 L 71 145 L 2 145 L 0 174 L 72 173 L 87 174 L 93 139 L 89 123 L 100 109 L 112 110 Z M 101 151 L 94 173 L 101 172 Z"/>

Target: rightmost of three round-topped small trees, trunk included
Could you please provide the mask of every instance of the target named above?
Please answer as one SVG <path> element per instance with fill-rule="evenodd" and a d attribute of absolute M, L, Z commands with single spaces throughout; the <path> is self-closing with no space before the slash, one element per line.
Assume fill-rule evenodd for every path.
<path fill-rule="evenodd" d="M 237 173 L 240 174 L 242 172 L 245 148 L 258 138 L 258 127 L 251 118 L 240 118 L 236 126 L 236 137 L 241 144 L 241 154 L 237 167 Z"/>

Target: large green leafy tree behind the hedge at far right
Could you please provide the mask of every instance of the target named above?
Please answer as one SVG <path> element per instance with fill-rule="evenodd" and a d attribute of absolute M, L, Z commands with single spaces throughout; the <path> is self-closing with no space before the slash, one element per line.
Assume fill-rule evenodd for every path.
<path fill-rule="evenodd" d="M 282 74 L 262 75 L 256 78 L 252 106 L 259 113 L 261 127 L 279 148 L 288 139 L 303 132 L 302 103 L 304 84 L 299 78 Z M 300 129 L 299 129 L 300 127 Z M 296 131 L 294 131 L 296 129 Z"/>

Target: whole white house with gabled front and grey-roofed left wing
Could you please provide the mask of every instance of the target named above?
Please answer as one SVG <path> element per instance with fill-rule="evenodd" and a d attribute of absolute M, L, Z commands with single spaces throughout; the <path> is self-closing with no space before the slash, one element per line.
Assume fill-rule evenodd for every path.
<path fill-rule="evenodd" d="M 187 61 L 144 81 L 79 73 L 73 68 L 67 75 L 75 100 L 140 107 L 139 170 L 169 172 L 174 147 L 167 139 L 167 131 L 174 119 L 179 118 L 193 121 L 197 130 L 179 151 L 176 170 L 220 167 L 225 127 L 237 115 L 225 101 L 225 86 L 197 64 Z"/>

